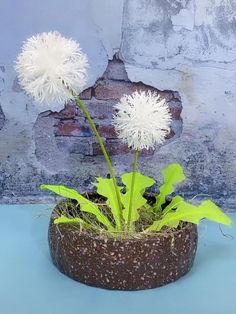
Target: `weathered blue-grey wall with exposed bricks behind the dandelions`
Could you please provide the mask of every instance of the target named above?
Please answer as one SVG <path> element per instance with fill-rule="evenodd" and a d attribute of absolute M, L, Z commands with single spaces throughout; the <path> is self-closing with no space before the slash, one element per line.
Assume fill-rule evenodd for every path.
<path fill-rule="evenodd" d="M 68 6 L 54 0 L 43 7 L 3 0 L 0 29 L 1 202 L 43 200 L 40 183 L 90 189 L 96 175 L 107 173 L 73 104 L 39 106 L 17 84 L 13 62 L 22 40 L 58 30 L 88 54 L 83 97 L 117 173 L 130 169 L 132 159 L 110 125 L 112 104 L 123 92 L 151 86 L 163 91 L 175 119 L 165 145 L 143 154 L 140 170 L 160 182 L 161 167 L 179 161 L 189 177 L 182 193 L 209 194 L 225 209 L 236 208 L 235 1 L 73 0 Z"/>

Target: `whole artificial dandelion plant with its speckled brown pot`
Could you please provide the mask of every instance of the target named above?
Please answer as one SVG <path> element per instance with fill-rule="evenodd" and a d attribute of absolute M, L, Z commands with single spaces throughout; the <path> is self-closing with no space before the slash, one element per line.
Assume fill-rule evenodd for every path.
<path fill-rule="evenodd" d="M 165 99 L 151 91 L 124 95 L 113 117 L 118 137 L 133 151 L 133 168 L 118 181 L 103 139 L 78 94 L 86 82 L 87 57 L 78 43 L 58 32 L 28 39 L 16 69 L 23 89 L 39 102 L 72 99 L 82 110 L 104 155 L 110 178 L 97 177 L 95 192 L 80 194 L 63 185 L 41 185 L 65 198 L 53 209 L 49 247 L 58 269 L 80 282 L 109 289 L 154 288 L 177 280 L 192 267 L 201 219 L 231 225 L 211 200 L 193 205 L 173 195 L 185 175 L 180 164 L 155 180 L 138 170 L 139 152 L 164 142 L 171 114 Z"/>

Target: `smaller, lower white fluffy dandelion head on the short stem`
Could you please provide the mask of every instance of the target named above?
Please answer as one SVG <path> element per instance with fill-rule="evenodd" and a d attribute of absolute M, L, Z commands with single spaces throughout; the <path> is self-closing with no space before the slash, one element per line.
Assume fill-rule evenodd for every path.
<path fill-rule="evenodd" d="M 124 95 L 115 105 L 118 137 L 134 150 L 163 143 L 170 130 L 171 114 L 164 99 L 151 91 Z"/>

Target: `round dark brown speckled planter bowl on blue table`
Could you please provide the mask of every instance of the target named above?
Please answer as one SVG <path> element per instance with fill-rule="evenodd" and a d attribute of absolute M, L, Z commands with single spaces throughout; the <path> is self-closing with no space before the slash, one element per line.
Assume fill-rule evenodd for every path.
<path fill-rule="evenodd" d="M 55 266 L 87 285 L 117 290 L 150 289 L 173 282 L 192 267 L 197 228 L 186 224 L 173 233 L 143 239 L 104 239 L 81 233 L 69 224 L 49 225 L 49 247 Z"/>

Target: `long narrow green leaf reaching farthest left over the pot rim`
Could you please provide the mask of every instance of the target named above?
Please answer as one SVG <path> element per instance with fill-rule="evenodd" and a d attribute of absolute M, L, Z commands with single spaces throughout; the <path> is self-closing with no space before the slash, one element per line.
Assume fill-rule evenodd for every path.
<path fill-rule="evenodd" d="M 109 219 L 101 213 L 98 206 L 93 202 L 87 200 L 84 196 L 79 194 L 77 191 L 67 188 L 64 185 L 41 185 L 40 188 L 42 190 L 52 191 L 60 196 L 74 199 L 80 204 L 80 210 L 83 212 L 91 213 L 96 216 L 97 220 L 107 227 L 107 230 L 110 232 L 114 231 L 114 227 L 112 226 Z"/>

